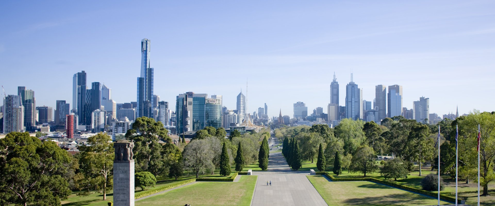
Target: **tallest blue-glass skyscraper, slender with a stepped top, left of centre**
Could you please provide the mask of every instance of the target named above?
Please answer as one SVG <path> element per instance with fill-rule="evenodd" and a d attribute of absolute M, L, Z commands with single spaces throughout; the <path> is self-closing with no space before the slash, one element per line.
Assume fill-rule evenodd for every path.
<path fill-rule="evenodd" d="M 137 117 L 153 118 L 153 68 L 149 63 L 148 39 L 141 40 L 141 76 L 138 77 Z"/>

